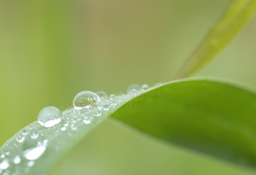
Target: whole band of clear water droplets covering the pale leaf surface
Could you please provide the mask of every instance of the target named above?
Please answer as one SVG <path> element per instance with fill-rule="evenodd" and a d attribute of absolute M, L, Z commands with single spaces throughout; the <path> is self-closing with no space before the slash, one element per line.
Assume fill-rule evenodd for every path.
<path fill-rule="evenodd" d="M 92 127 L 90 125 L 92 122 L 99 123 L 104 117 L 130 99 L 160 85 L 162 84 L 157 84 L 152 88 L 148 88 L 148 85 L 130 85 L 127 89 L 127 94 L 121 94 L 120 96 L 113 94 L 108 96 L 103 91 L 98 93 L 83 91 L 75 96 L 73 100 L 74 108 L 72 109 L 61 112 L 53 106 L 45 107 L 38 114 L 37 125 L 31 124 L 23 128 L 15 136 L 15 144 L 7 141 L 6 146 L 9 147 L 8 144 L 12 144 L 12 150 L 17 152 L 20 149 L 20 154 L 15 154 L 11 150 L 1 151 L 0 174 L 15 175 L 13 171 L 8 170 L 11 169 L 11 166 L 12 169 L 15 169 L 13 167 L 20 163 L 25 164 L 26 168 L 19 170 L 16 175 L 28 173 L 30 168 L 35 166 L 36 161 L 46 154 L 45 152 L 48 149 L 51 148 L 55 151 L 61 149 L 61 145 L 54 145 L 54 147 L 48 148 L 48 144 L 53 142 L 53 139 L 56 139 L 57 136 L 59 138 L 63 136 L 64 139 L 67 139 L 67 136 L 70 139 L 78 139 L 79 134 L 76 134 L 78 129 L 81 131 Z M 54 136 L 50 136 L 51 134 Z"/>

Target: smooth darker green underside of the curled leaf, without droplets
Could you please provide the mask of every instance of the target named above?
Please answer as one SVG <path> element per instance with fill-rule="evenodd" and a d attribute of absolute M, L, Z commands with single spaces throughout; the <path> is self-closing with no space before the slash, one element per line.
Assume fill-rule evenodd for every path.
<path fill-rule="evenodd" d="M 192 80 L 138 96 L 113 117 L 157 139 L 255 167 L 255 114 L 255 93 Z"/>

